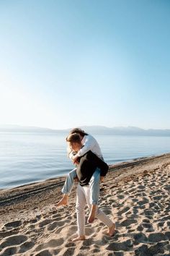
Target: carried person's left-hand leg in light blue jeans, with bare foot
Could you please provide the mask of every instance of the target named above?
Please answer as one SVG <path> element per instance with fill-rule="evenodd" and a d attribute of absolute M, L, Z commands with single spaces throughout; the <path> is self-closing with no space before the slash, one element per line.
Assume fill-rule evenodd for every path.
<path fill-rule="evenodd" d="M 68 194 L 71 192 L 73 187 L 73 179 L 76 178 L 76 168 L 69 172 L 66 182 L 63 185 L 61 192 L 63 193 L 63 198 L 56 204 L 56 206 L 67 205 L 68 204 Z"/>

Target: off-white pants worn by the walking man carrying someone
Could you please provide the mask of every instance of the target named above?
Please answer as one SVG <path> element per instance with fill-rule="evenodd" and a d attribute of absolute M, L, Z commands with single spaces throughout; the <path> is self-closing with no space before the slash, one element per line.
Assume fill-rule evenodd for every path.
<path fill-rule="evenodd" d="M 77 215 L 77 226 L 78 226 L 78 235 L 85 235 L 85 207 L 86 204 L 91 208 L 90 204 L 90 188 L 89 185 L 81 187 L 80 184 L 77 186 L 77 195 L 76 195 L 76 215 Z M 106 226 L 111 228 L 113 222 L 106 216 L 106 214 L 99 210 L 97 207 L 96 217 L 99 218 Z"/>

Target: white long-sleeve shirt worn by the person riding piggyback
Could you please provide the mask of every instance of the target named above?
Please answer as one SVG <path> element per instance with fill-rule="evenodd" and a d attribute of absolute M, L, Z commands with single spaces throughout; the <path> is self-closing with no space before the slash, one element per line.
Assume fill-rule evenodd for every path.
<path fill-rule="evenodd" d="M 99 158 L 102 158 L 102 151 L 99 147 L 99 144 L 96 139 L 94 139 L 91 135 L 84 135 L 83 140 L 81 140 L 84 145 L 81 150 L 76 153 L 77 156 L 84 155 L 87 151 L 91 150 L 94 154 L 96 154 Z M 69 158 L 73 157 L 73 152 L 69 153 Z"/>

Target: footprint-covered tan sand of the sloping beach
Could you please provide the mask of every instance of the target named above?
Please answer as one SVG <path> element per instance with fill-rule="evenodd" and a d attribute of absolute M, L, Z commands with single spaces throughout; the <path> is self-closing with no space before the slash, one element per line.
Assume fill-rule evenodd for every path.
<path fill-rule="evenodd" d="M 76 184 L 67 207 L 53 209 L 65 180 L 50 179 L 0 191 L 0 255 L 170 255 L 170 154 L 109 166 L 101 184 L 100 208 L 116 223 L 86 223 L 76 233 Z M 87 214 L 86 214 L 87 215 Z"/>

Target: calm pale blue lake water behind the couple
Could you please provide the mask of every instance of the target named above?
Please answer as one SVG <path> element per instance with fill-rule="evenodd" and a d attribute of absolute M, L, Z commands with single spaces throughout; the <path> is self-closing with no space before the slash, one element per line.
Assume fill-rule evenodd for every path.
<path fill-rule="evenodd" d="M 0 133 L 0 189 L 56 176 L 73 168 L 66 135 Z M 170 152 L 170 137 L 94 135 L 108 164 Z"/>

